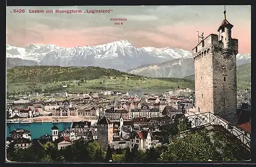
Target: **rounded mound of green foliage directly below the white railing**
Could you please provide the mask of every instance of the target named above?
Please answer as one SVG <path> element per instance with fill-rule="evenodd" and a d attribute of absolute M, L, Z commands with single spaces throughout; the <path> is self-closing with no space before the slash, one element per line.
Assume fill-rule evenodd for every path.
<path fill-rule="evenodd" d="M 206 130 L 187 132 L 173 138 L 160 159 L 161 161 L 225 161 L 246 159 L 241 158 L 243 154 L 249 157 L 243 146 L 241 151 L 231 142 L 218 132 L 208 133 Z"/>

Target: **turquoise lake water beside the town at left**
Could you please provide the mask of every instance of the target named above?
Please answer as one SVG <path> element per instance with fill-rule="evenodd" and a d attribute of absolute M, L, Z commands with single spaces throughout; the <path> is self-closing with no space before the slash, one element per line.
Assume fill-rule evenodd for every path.
<path fill-rule="evenodd" d="M 52 127 L 56 125 L 59 128 L 59 132 L 64 129 L 70 129 L 72 123 L 32 123 L 32 124 L 7 124 L 6 136 L 9 136 L 9 132 L 15 129 L 25 129 L 30 131 L 31 139 L 39 138 L 45 134 L 52 134 Z"/>

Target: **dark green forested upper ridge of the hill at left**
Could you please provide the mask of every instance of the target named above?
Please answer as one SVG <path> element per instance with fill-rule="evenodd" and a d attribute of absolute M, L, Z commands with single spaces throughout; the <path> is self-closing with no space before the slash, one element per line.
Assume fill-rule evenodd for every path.
<path fill-rule="evenodd" d="M 61 66 L 18 66 L 7 69 L 8 82 L 53 83 L 69 80 L 94 80 L 103 76 L 120 77 L 127 75 L 116 69 L 100 67 L 61 67 Z M 132 77 L 139 77 L 130 75 Z"/>

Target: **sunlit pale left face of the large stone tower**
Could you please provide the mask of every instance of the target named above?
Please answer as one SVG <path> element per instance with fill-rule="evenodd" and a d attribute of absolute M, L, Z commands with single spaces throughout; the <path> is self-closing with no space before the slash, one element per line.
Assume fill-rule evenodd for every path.
<path fill-rule="evenodd" d="M 204 46 L 200 42 L 193 50 L 193 59 L 195 62 L 195 96 L 196 111 L 213 112 L 214 94 L 213 94 L 213 69 L 212 69 L 212 39 L 218 35 L 211 34 L 204 40 Z M 196 52 L 197 50 L 197 52 Z"/>

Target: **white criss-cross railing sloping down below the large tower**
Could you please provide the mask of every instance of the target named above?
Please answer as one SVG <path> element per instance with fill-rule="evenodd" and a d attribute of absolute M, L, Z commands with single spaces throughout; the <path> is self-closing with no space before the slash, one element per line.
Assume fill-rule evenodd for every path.
<path fill-rule="evenodd" d="M 227 121 L 225 121 L 223 118 L 215 115 L 211 112 L 205 112 L 195 115 L 188 115 L 186 116 L 188 118 L 188 121 L 191 122 L 191 128 L 205 126 L 205 125 L 221 125 L 226 130 L 228 130 L 231 134 L 239 138 L 242 143 L 250 149 L 250 137 L 246 136 L 242 130 L 240 130 L 238 127 L 231 125 Z"/>

